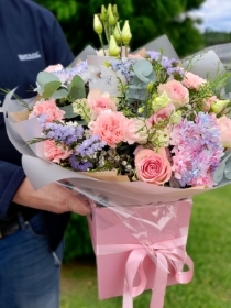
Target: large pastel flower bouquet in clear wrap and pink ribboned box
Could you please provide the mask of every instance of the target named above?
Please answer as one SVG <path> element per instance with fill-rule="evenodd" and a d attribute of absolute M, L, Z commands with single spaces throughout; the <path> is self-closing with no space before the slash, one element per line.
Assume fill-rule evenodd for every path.
<path fill-rule="evenodd" d="M 162 50 L 130 53 L 129 21 L 120 30 L 118 18 L 102 6 L 102 51 L 41 72 L 37 96 L 18 98 L 23 111 L 10 92 L 6 124 L 35 188 L 57 180 L 90 198 L 100 298 L 123 294 L 129 308 L 152 288 L 161 308 L 166 285 L 193 278 L 190 198 L 231 179 L 231 74 L 219 59 L 212 78 L 195 74 L 211 54 L 182 63 Z"/>

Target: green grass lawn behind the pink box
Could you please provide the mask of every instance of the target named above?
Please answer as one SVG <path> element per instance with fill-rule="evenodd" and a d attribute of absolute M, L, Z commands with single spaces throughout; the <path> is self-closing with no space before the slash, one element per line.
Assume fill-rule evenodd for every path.
<path fill-rule="evenodd" d="M 195 274 L 187 285 L 168 286 L 165 308 L 231 308 L 231 186 L 194 198 L 187 252 Z M 148 308 L 151 293 L 134 299 Z M 119 308 L 122 298 L 99 300 L 95 262 L 63 266 L 61 308 Z"/>

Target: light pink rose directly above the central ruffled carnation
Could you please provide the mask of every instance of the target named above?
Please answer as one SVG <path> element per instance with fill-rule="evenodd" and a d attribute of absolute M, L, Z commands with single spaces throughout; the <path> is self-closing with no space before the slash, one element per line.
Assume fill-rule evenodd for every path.
<path fill-rule="evenodd" d="M 109 92 L 101 92 L 100 89 L 92 89 L 87 97 L 88 105 L 94 118 L 103 110 L 117 111 L 116 102 L 110 98 Z"/>

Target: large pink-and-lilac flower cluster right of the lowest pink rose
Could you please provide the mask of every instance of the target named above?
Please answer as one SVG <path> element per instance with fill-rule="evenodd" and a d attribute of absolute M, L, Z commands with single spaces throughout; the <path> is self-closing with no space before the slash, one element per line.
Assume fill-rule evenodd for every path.
<path fill-rule="evenodd" d="M 195 122 L 184 119 L 170 133 L 173 170 L 182 187 L 213 186 L 212 175 L 224 148 L 216 117 L 199 112 Z"/>

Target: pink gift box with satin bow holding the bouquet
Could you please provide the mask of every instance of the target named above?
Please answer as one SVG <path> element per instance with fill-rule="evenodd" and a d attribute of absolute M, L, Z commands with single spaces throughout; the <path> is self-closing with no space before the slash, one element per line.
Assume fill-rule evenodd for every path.
<path fill-rule="evenodd" d="M 167 285 L 188 283 L 194 263 L 186 253 L 193 202 L 92 207 L 88 224 L 97 258 L 99 298 L 132 298 L 152 289 L 152 308 L 164 305 Z M 184 264 L 188 271 L 183 272 Z"/>

